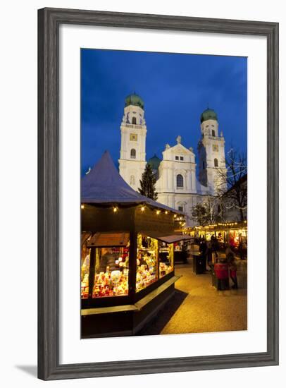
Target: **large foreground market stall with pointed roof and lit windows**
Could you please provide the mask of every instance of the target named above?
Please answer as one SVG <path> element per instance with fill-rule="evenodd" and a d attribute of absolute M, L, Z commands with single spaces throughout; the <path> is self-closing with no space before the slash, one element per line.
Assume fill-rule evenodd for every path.
<path fill-rule="evenodd" d="M 173 296 L 182 214 L 132 190 L 108 152 L 81 189 L 82 337 L 135 334 Z"/>

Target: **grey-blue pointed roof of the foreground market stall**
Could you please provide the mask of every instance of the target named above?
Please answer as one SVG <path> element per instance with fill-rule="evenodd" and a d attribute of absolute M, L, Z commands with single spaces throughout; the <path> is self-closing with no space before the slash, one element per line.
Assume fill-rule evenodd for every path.
<path fill-rule="evenodd" d="M 105 151 L 99 162 L 82 178 L 81 202 L 90 204 L 148 204 L 159 209 L 184 214 L 179 210 L 151 200 L 133 190 L 120 176 L 111 155 Z"/>

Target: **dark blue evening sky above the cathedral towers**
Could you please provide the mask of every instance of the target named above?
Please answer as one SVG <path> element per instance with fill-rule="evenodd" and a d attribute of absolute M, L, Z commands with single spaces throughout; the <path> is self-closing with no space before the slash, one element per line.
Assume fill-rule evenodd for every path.
<path fill-rule="evenodd" d="M 147 159 L 162 158 L 182 136 L 197 152 L 200 115 L 218 114 L 225 152 L 247 153 L 247 58 L 139 51 L 81 50 L 82 174 L 104 150 L 118 166 L 125 97 L 144 100 Z"/>

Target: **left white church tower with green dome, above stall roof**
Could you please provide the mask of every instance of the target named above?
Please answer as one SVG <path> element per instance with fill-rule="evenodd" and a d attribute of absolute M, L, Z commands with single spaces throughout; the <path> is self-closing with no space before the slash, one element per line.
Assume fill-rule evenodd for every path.
<path fill-rule="evenodd" d="M 119 174 L 134 189 L 146 166 L 147 127 L 144 119 L 144 102 L 133 93 L 125 98 L 121 131 Z"/>

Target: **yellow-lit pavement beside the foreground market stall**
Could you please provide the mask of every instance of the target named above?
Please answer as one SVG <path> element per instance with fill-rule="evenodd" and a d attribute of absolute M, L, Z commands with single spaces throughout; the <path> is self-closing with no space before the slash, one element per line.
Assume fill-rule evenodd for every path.
<path fill-rule="evenodd" d="M 176 264 L 175 274 L 181 275 L 175 283 L 175 296 L 139 335 L 247 329 L 247 260 L 237 260 L 237 290 L 217 291 L 210 273 L 194 274 L 192 259 L 188 264 Z"/>

